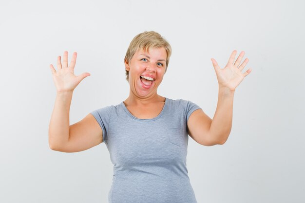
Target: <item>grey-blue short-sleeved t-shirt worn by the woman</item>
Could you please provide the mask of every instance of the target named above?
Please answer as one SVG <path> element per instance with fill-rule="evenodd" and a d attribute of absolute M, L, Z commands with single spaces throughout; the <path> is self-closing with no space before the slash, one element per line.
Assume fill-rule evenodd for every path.
<path fill-rule="evenodd" d="M 166 98 L 152 119 L 136 118 L 123 102 L 91 112 L 114 164 L 109 203 L 197 203 L 186 166 L 187 120 L 197 109 Z"/>

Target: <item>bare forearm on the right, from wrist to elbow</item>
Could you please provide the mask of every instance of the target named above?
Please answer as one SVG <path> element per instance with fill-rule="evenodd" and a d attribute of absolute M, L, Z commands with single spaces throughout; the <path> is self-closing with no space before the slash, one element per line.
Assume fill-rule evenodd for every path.
<path fill-rule="evenodd" d="M 234 92 L 219 87 L 218 102 L 214 117 L 210 126 L 210 136 L 217 143 L 224 144 L 232 128 Z"/>

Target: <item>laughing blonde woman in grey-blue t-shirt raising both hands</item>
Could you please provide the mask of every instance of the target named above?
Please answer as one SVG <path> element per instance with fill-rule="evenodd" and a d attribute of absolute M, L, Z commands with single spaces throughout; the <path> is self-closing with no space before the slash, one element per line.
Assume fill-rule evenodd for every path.
<path fill-rule="evenodd" d="M 57 97 L 49 126 L 50 148 L 77 152 L 104 142 L 114 164 L 109 203 L 196 203 L 186 167 L 188 134 L 204 146 L 224 144 L 231 123 L 233 94 L 248 70 L 242 52 L 234 63 L 234 50 L 224 69 L 212 60 L 219 98 L 213 120 L 191 101 L 172 100 L 157 94 L 171 56 L 170 44 L 156 32 L 133 38 L 126 56 L 129 97 L 118 105 L 89 113 L 70 126 L 72 94 L 89 73 L 74 74 L 76 52 L 68 66 L 57 58 L 50 65 Z"/>

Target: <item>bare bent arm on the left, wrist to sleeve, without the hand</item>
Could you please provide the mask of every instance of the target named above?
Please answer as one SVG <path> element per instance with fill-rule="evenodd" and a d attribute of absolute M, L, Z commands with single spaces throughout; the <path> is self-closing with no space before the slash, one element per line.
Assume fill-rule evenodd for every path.
<path fill-rule="evenodd" d="M 81 121 L 69 125 L 72 92 L 57 93 L 49 126 L 49 146 L 61 152 L 78 152 L 103 142 L 103 131 L 89 113 Z"/>

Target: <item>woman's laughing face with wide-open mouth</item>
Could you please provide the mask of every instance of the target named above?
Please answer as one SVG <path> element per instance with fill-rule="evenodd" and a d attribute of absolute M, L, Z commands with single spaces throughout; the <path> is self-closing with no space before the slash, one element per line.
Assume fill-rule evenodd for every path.
<path fill-rule="evenodd" d="M 163 47 L 152 48 L 149 52 L 138 50 L 129 63 L 125 62 L 129 85 L 135 96 L 146 98 L 156 94 L 165 73 L 166 56 Z"/>

